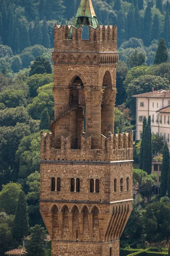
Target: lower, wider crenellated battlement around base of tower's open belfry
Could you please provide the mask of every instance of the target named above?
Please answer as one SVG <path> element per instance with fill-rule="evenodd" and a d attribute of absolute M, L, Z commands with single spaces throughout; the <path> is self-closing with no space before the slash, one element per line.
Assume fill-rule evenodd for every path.
<path fill-rule="evenodd" d="M 81 134 L 81 148 L 71 149 L 71 135 L 61 135 L 61 149 L 54 148 L 54 135 L 41 133 L 41 160 L 123 161 L 133 159 L 133 131 L 101 134 L 101 149 L 91 149 L 92 135 Z"/>

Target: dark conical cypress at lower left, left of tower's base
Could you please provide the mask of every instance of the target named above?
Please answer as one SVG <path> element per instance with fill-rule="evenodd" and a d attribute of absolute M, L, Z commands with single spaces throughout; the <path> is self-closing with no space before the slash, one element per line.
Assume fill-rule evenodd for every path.
<path fill-rule="evenodd" d="M 28 214 L 24 192 L 20 192 L 14 218 L 14 237 L 18 242 L 29 232 Z"/>

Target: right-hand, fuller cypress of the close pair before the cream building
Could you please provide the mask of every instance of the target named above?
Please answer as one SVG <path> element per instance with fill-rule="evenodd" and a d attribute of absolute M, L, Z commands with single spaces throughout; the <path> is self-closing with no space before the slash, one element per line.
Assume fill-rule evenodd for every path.
<path fill-rule="evenodd" d="M 143 170 L 147 172 L 147 174 L 151 174 L 152 172 L 152 143 L 149 125 L 146 125 L 144 129 Z"/>

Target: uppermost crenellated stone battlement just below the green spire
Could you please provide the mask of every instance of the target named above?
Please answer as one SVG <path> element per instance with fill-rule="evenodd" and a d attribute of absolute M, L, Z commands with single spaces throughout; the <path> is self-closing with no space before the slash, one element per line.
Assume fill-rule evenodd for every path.
<path fill-rule="evenodd" d="M 116 52 L 117 26 L 88 26 L 89 39 L 83 39 L 84 26 L 55 25 L 54 52 Z M 71 38 L 71 39 L 68 39 Z"/>

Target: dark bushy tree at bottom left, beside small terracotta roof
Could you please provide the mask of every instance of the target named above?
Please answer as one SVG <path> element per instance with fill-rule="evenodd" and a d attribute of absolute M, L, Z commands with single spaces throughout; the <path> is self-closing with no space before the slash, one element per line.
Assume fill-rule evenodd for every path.
<path fill-rule="evenodd" d="M 35 225 L 30 228 L 30 239 L 26 244 L 26 251 L 29 256 L 45 256 L 46 249 L 46 231 L 44 227 Z"/>

